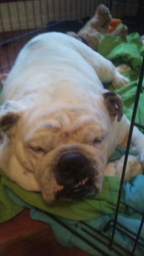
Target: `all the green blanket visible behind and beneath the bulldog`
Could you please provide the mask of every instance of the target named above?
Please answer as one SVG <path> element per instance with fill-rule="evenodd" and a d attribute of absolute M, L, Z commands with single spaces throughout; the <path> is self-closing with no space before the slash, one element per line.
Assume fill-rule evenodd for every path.
<path fill-rule="evenodd" d="M 142 63 L 143 46 L 138 34 L 131 34 L 128 37 L 128 43 L 123 42 L 118 37 L 106 35 L 102 38 L 99 45 L 99 53 L 112 60 L 115 65 L 126 63 L 132 68 L 126 75 L 131 79 L 128 85 L 121 89 L 116 90 L 124 101 L 124 110 L 128 118 L 131 118 L 132 108 L 135 100 L 135 92 L 137 89 L 137 82 L 140 74 L 140 66 Z M 112 88 L 110 88 L 113 90 Z M 137 111 L 137 122 L 144 120 L 143 110 L 144 95 L 140 97 L 139 109 Z M 121 152 L 118 151 L 114 157 L 118 158 Z M 120 181 L 115 177 L 105 177 L 102 192 L 81 202 L 62 203 L 58 202 L 54 205 L 47 205 L 41 199 L 38 192 L 28 192 L 20 188 L 9 178 L 5 177 L 1 172 L 0 183 L 0 222 L 7 221 L 16 214 L 23 210 L 24 206 L 18 205 L 13 202 L 13 198 L 7 195 L 7 189 L 14 192 L 15 195 L 20 197 L 27 205 L 36 207 L 42 211 L 56 214 L 62 218 L 71 220 L 90 220 L 98 218 L 104 214 L 114 214 L 115 205 L 117 202 L 118 188 Z M 126 208 L 120 208 L 121 213 L 126 213 Z"/>

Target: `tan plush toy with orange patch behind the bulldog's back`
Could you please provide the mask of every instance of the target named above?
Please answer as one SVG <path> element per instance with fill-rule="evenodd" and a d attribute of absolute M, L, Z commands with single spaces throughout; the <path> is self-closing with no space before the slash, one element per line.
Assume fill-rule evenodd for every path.
<path fill-rule="evenodd" d="M 101 4 L 95 15 L 80 29 L 75 32 L 67 32 L 68 35 L 81 40 L 92 49 L 97 50 L 99 40 L 104 34 L 112 34 L 126 40 L 128 28 L 123 25 L 120 19 L 112 18 L 109 9 Z"/>

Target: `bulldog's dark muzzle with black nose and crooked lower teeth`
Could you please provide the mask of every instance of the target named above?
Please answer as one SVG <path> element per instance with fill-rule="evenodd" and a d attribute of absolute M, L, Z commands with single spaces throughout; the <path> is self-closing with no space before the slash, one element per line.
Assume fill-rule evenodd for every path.
<path fill-rule="evenodd" d="M 81 152 L 63 153 L 56 166 L 56 180 L 63 185 L 57 192 L 57 199 L 82 199 L 95 194 L 94 167 Z"/>

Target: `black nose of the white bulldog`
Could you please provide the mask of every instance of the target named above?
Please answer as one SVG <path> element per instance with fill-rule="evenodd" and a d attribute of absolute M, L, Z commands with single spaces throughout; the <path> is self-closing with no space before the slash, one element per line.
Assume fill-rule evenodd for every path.
<path fill-rule="evenodd" d="M 89 166 L 88 159 L 81 152 L 67 152 L 60 157 L 57 170 L 63 178 L 74 178 L 75 182 L 79 182 L 88 175 Z"/>

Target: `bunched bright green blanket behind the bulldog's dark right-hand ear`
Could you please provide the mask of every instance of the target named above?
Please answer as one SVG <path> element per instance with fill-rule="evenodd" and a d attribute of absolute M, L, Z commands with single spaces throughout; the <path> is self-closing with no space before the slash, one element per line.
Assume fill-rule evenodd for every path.
<path fill-rule="evenodd" d="M 98 52 L 111 60 L 117 67 L 120 64 L 127 64 L 131 67 L 131 71 L 124 73 L 130 82 L 121 89 L 115 89 L 122 98 L 124 104 L 124 113 L 131 120 L 132 109 L 134 107 L 135 93 L 139 81 L 140 68 L 142 65 L 142 56 L 144 56 L 144 46 L 139 34 L 134 33 L 128 36 L 128 42 L 123 42 L 119 37 L 113 35 L 105 35 L 101 39 Z M 143 82 L 144 86 L 144 82 Z M 114 90 L 109 87 L 110 90 Z M 139 107 L 135 122 L 142 123 L 144 120 L 144 93 L 140 95 Z"/>

